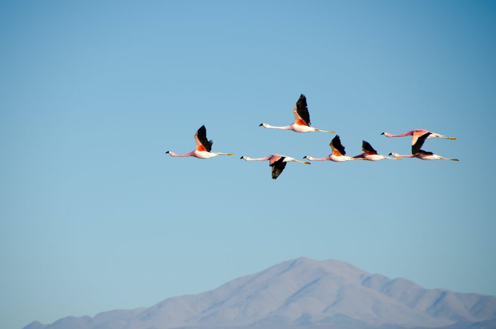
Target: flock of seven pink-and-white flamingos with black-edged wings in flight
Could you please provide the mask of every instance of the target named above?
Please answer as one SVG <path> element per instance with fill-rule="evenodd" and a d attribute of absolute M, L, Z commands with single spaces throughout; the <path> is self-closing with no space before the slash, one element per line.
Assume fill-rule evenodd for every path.
<path fill-rule="evenodd" d="M 300 98 L 295 104 L 293 109 L 293 114 L 295 116 L 295 120 L 292 124 L 288 126 L 271 126 L 266 123 L 261 123 L 259 126 L 264 128 L 272 128 L 272 129 L 284 129 L 284 130 L 293 130 L 297 133 L 308 133 L 314 131 L 321 131 L 326 133 L 334 133 L 332 130 L 320 130 L 313 128 L 310 125 L 310 114 L 307 105 L 307 97 L 304 94 L 300 95 Z M 333 162 L 345 162 L 351 160 L 367 160 L 367 161 L 379 161 L 383 159 L 390 160 L 401 160 L 402 158 L 418 158 L 421 160 L 451 160 L 451 161 L 459 161 L 458 159 L 448 159 L 438 156 L 432 152 L 427 152 L 422 150 L 424 142 L 429 138 L 445 138 L 454 140 L 454 137 L 446 137 L 440 134 L 433 133 L 428 130 L 422 129 L 414 129 L 404 134 L 393 135 L 386 132 L 381 133 L 386 137 L 404 137 L 404 136 L 413 136 L 412 138 L 412 154 L 411 155 L 400 155 L 394 152 L 389 153 L 389 156 L 393 156 L 394 158 L 383 156 L 377 153 L 372 145 L 367 141 L 362 141 L 362 154 L 359 154 L 355 157 L 349 157 L 346 155 L 345 148 L 341 144 L 340 137 L 336 135 L 330 142 L 329 146 L 331 147 L 332 153 L 324 158 L 313 158 L 310 156 L 305 156 L 304 159 L 308 161 L 333 161 Z M 194 140 L 196 142 L 195 150 L 186 153 L 186 154 L 176 154 L 171 151 L 167 151 L 166 154 L 169 154 L 171 157 L 195 157 L 198 159 L 210 159 L 219 155 L 227 155 L 232 156 L 233 153 L 220 153 L 220 152 L 211 152 L 212 150 L 212 140 L 207 139 L 207 131 L 205 126 L 201 126 L 196 134 L 194 135 Z M 298 162 L 302 164 L 310 165 L 310 162 L 303 162 L 300 160 L 296 160 L 295 158 L 271 154 L 264 158 L 248 158 L 246 156 L 241 157 L 240 159 L 244 159 L 246 161 L 268 161 L 269 166 L 271 167 L 271 175 L 272 179 L 276 179 L 282 173 L 286 164 L 288 162 Z"/>

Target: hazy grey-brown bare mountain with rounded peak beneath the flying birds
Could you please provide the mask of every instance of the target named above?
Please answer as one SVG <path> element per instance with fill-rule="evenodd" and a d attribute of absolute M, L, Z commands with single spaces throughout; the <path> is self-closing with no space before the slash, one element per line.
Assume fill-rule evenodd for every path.
<path fill-rule="evenodd" d="M 24 329 L 496 328 L 496 297 L 424 289 L 337 260 L 298 258 L 150 308 Z"/>

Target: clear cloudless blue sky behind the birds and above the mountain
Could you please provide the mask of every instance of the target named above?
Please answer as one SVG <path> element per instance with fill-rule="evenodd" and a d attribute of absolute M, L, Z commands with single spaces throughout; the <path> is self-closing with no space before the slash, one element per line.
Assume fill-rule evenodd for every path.
<path fill-rule="evenodd" d="M 2 328 L 338 259 L 496 295 L 494 1 L 2 1 Z M 334 136 L 460 162 L 290 163 Z M 214 152 L 193 150 L 205 125 Z"/>

